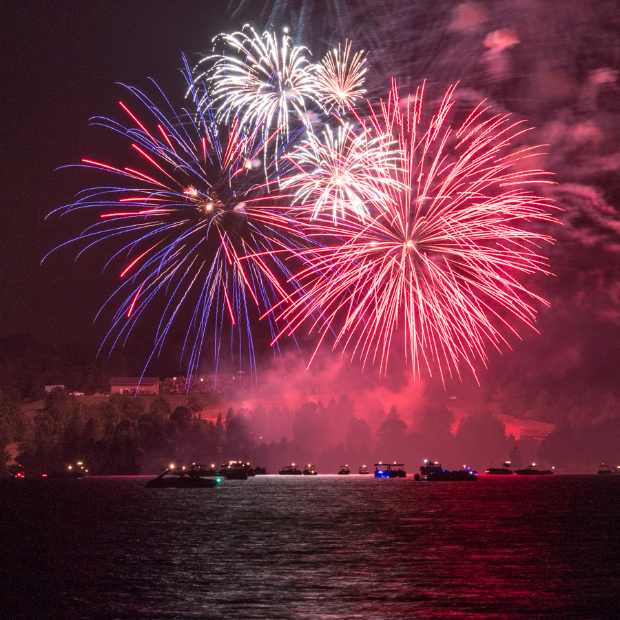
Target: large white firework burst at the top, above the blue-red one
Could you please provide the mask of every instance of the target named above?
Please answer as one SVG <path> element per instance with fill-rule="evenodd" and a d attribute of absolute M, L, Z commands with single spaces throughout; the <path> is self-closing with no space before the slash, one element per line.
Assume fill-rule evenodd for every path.
<path fill-rule="evenodd" d="M 273 132 L 273 152 L 277 154 L 300 126 L 311 128 L 313 119 L 324 112 L 316 65 L 307 59 L 306 48 L 291 46 L 286 33 L 279 42 L 276 32 L 259 36 L 254 28 L 246 29 L 249 34 L 242 31 L 216 37 L 232 54 L 204 59 L 204 63 L 213 64 L 205 72 L 196 71 L 194 83 L 206 80 L 211 85 L 205 95 L 208 99 L 201 99 L 200 104 L 215 107 L 219 121 L 238 118 L 247 134 L 258 130 L 265 145 Z"/>

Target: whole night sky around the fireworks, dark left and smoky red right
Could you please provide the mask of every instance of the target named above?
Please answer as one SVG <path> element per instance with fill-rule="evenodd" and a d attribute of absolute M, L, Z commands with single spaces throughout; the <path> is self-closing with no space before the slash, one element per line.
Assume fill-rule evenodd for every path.
<path fill-rule="evenodd" d="M 302 4 L 314 7 L 314 21 L 306 24 L 316 26 L 302 43 L 324 48 L 331 39 L 318 17 L 321 3 L 289 6 Z M 528 284 L 551 307 L 540 308 L 540 334 L 520 330 L 524 340 L 510 340 L 512 352 L 490 353 L 488 373 L 620 389 L 619 3 L 420 2 L 418 10 L 428 8 L 426 21 L 407 8 L 400 24 L 395 14 L 378 19 L 383 3 L 374 4 L 373 12 L 373 3 L 355 3 L 355 19 L 342 27 L 375 54 L 371 96 L 382 92 L 386 68 L 395 65 L 406 66 L 402 83 L 426 78 L 443 86 L 460 79 L 473 99 L 486 96 L 527 118 L 536 127 L 533 139 L 550 145 L 542 165 L 556 175 L 551 196 L 564 209 L 562 225 L 550 231 L 557 242 L 545 249 L 555 275 Z M 81 169 L 59 167 L 122 154 L 122 138 L 89 126 L 92 116 L 121 116 L 123 89 L 116 83 L 147 89 L 152 78 L 166 92 L 182 94 L 182 54 L 192 64 L 210 50 L 215 34 L 243 21 L 231 19 L 225 0 L 8 0 L 4 7 L 0 337 L 27 333 L 52 344 L 99 344 L 109 323 L 94 318 L 116 289 L 116 274 L 101 274 L 105 260 L 96 251 L 74 262 L 76 252 L 63 250 L 40 264 L 88 223 L 45 216 L 96 183 Z M 418 30 L 407 30 L 407 19 Z M 364 27 L 369 23 L 372 28 Z M 266 25 L 258 14 L 256 25 Z M 499 39 L 512 40 L 507 30 L 518 43 L 502 48 Z M 504 38 L 488 38 L 490 32 Z M 480 372 L 484 381 L 482 365 Z"/>

